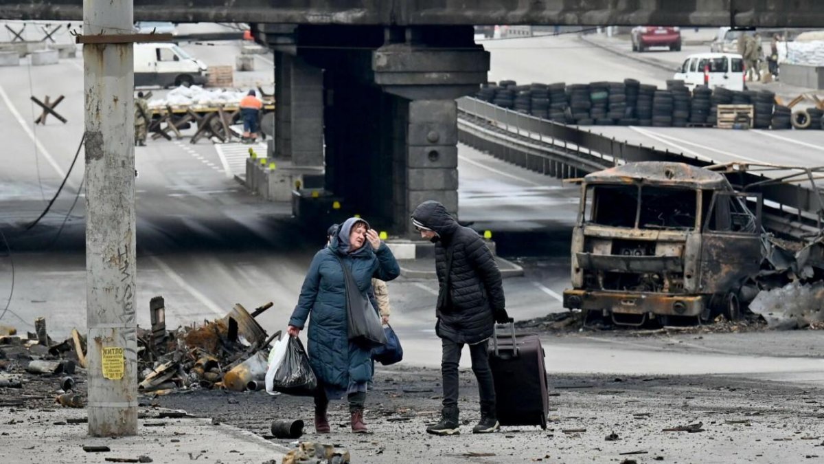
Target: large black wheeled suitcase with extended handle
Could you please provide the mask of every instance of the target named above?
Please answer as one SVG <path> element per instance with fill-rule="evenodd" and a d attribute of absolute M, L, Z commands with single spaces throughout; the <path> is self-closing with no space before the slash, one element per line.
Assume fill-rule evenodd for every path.
<path fill-rule="evenodd" d="M 489 343 L 489 367 L 499 423 L 545 429 L 550 405 L 541 339 L 536 334 L 515 334 L 512 322 L 496 325 Z"/>

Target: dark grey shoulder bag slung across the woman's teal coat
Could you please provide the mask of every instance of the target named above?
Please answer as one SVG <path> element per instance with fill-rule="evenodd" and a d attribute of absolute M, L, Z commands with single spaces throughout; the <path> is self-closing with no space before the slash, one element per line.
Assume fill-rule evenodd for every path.
<path fill-rule="evenodd" d="M 355 282 L 344 260 L 337 255 L 335 257 L 338 258 L 340 268 L 344 271 L 349 341 L 367 349 L 386 344 L 386 334 L 381 327 L 380 316 L 377 315 L 369 299 L 358 290 L 358 282 Z"/>

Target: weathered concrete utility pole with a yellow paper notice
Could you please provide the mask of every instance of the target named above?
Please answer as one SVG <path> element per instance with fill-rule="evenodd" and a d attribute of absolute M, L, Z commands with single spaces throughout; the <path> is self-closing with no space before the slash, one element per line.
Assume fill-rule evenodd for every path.
<path fill-rule="evenodd" d="M 89 434 L 138 433 L 132 0 L 83 0 Z"/>

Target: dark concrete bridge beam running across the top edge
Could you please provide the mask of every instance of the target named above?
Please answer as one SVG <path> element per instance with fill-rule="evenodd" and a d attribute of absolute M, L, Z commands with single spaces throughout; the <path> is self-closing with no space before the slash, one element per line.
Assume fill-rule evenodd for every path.
<path fill-rule="evenodd" d="M 4 19 L 79 21 L 82 0 L 0 0 Z M 134 0 L 135 21 L 278 24 L 755 26 L 824 24 L 819 0 Z"/>

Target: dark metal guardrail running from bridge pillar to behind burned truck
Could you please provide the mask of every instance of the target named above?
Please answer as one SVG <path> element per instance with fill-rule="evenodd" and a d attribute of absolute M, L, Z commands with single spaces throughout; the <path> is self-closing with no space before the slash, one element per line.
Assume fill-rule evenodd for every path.
<path fill-rule="evenodd" d="M 670 161 L 706 167 L 710 163 L 684 154 L 628 144 L 575 126 L 547 121 L 498 107 L 472 97 L 458 104 L 461 142 L 494 156 L 556 178 L 576 178 L 616 163 Z M 768 180 L 753 173 L 728 174 L 733 185 L 747 187 Z M 822 196 L 797 184 L 757 185 L 766 202 L 765 226 L 783 234 L 816 234 L 822 230 Z"/>

